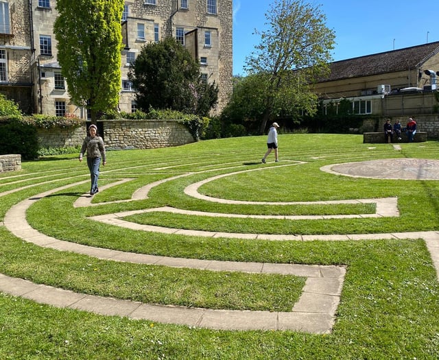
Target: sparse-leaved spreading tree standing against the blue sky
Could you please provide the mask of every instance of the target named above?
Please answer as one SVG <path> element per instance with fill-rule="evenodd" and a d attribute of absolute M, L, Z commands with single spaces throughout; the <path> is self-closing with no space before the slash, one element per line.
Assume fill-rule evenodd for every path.
<path fill-rule="evenodd" d="M 320 7 L 302 0 L 274 0 L 265 14 L 267 29 L 256 32 L 261 41 L 246 59 L 246 71 L 265 79 L 261 133 L 281 111 L 316 112 L 317 97 L 309 85 L 329 71 L 335 39 Z"/>

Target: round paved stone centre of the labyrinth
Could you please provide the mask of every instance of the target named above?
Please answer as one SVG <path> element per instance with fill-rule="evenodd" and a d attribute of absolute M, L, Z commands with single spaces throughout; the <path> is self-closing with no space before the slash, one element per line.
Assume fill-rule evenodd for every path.
<path fill-rule="evenodd" d="M 439 180 L 439 160 L 390 158 L 327 165 L 322 171 L 354 178 Z"/>

